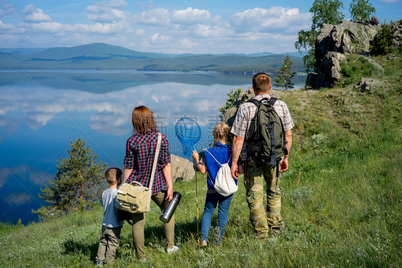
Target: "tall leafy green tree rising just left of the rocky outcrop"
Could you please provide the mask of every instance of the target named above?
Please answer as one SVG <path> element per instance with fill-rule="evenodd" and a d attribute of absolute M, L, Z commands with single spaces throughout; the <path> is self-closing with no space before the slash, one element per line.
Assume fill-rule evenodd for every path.
<path fill-rule="evenodd" d="M 339 0 L 316 0 L 309 12 L 313 13 L 312 26 L 310 31 L 301 30 L 298 32 L 298 39 L 294 46 L 300 49 L 309 50 L 308 54 L 303 57 L 306 71 L 316 70 L 315 44 L 318 33 L 323 24 L 338 24 L 344 15 L 340 11 L 344 8 L 343 3 Z"/>

